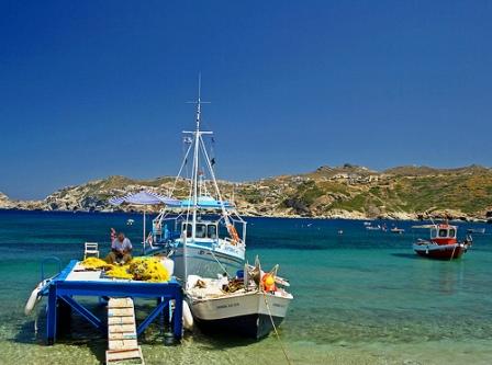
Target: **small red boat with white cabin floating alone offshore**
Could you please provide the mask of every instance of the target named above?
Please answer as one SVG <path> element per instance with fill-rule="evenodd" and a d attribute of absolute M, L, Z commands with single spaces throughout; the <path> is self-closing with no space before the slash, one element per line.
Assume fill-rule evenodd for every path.
<path fill-rule="evenodd" d="M 462 241 L 458 241 L 458 227 L 451 226 L 447 223 L 440 225 L 425 225 L 414 226 L 413 228 L 429 228 L 431 239 L 418 239 L 413 244 L 413 250 L 421 256 L 437 259 L 437 260 L 452 260 L 459 259 L 471 247 L 471 236 Z"/>

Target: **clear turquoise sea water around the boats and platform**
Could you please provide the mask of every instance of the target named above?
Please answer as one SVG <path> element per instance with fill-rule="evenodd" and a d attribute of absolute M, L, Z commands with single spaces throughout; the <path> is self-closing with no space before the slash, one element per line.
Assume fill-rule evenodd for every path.
<path fill-rule="evenodd" d="M 398 223 L 405 233 L 394 235 L 368 231 L 360 220 L 247 220 L 249 260 L 279 263 L 291 282 L 294 300 L 279 330 L 291 364 L 492 364 L 492 225 L 458 224 L 461 237 L 467 228 L 487 231 L 474 235 L 461 260 L 443 262 L 412 252 L 427 231 L 410 221 Z M 45 301 L 37 316 L 23 309 L 43 258 L 56 255 L 65 266 L 81 256 L 85 241 L 107 251 L 110 227 L 138 248 L 138 214 L 0 212 L 0 364 L 104 361 L 104 337 L 77 315 L 72 331 L 46 346 Z M 46 275 L 57 270 L 45 265 Z M 146 309 L 138 307 L 138 318 Z M 155 326 L 139 342 L 147 364 L 288 364 L 273 334 L 255 342 L 195 331 L 166 346 Z"/>

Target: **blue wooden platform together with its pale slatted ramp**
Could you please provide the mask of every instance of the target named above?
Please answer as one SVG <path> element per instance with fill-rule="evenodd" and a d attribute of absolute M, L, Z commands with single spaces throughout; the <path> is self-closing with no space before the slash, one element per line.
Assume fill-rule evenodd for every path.
<path fill-rule="evenodd" d="M 164 312 L 171 313 L 172 321 L 169 330 L 172 331 L 175 341 L 182 337 L 182 287 L 172 277 L 166 283 L 147 283 L 128 280 L 114 280 L 103 275 L 101 271 L 88 271 L 80 266 L 77 260 L 70 263 L 54 276 L 41 292 L 47 297 L 46 311 L 46 342 L 53 345 L 56 341 L 57 322 L 66 321 L 62 307 L 69 307 L 70 312 L 77 312 L 87 322 L 103 333 L 108 333 L 109 362 L 115 362 L 113 351 L 128 352 L 127 358 L 139 351 L 137 337 Z M 89 310 L 78 297 L 114 298 L 108 312 L 108 323 L 102 318 Z M 77 299 L 76 299 L 77 298 Z M 154 299 L 156 305 L 136 327 L 133 300 L 145 298 Z M 130 300 L 130 301 L 128 301 Z M 175 304 L 171 310 L 171 303 Z M 70 315 L 68 315 L 70 316 Z M 63 318 L 62 318 L 63 317 Z M 128 349 L 128 350 L 127 350 Z M 142 356 L 141 356 L 142 358 Z"/>

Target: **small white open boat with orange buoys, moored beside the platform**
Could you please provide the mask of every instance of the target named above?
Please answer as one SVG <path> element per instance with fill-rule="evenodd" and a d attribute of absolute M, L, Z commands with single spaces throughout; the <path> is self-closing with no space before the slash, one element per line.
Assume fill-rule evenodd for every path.
<path fill-rule="evenodd" d="M 234 278 L 189 276 L 187 301 L 202 331 L 256 340 L 277 332 L 293 296 L 284 289 L 289 283 L 277 275 L 278 265 L 265 273 L 256 262 Z"/>

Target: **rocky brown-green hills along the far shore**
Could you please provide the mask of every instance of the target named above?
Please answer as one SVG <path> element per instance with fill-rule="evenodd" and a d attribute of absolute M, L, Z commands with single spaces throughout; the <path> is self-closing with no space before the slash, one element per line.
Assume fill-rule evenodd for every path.
<path fill-rule="evenodd" d="M 170 176 L 132 180 L 124 176 L 62 189 L 43 201 L 12 202 L 0 207 L 47 210 L 112 210 L 108 198 L 141 189 L 167 195 Z M 398 167 L 382 172 L 364 167 L 321 167 L 299 175 L 259 181 L 220 182 L 224 196 L 244 215 L 417 219 L 426 216 L 488 219 L 492 216 L 492 170 Z M 179 180 L 175 196 L 186 197 L 189 183 Z M 209 190 L 212 186 L 209 184 Z M 138 209 L 138 207 L 124 207 Z"/>

